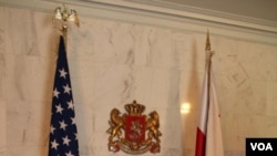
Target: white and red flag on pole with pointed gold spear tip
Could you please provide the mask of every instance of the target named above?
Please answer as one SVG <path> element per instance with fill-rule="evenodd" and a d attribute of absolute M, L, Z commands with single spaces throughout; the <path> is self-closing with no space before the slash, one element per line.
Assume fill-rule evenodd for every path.
<path fill-rule="evenodd" d="M 212 74 L 209 37 L 206 43 L 206 65 L 202 89 L 201 111 L 196 135 L 195 156 L 224 156 L 220 114 Z"/>

